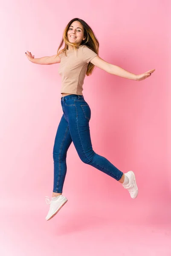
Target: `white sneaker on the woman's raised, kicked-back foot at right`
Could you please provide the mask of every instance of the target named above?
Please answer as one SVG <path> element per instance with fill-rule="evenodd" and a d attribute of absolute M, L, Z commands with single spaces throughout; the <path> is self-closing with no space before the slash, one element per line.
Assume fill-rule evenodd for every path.
<path fill-rule="evenodd" d="M 126 172 L 125 175 L 129 179 L 129 183 L 127 185 L 123 185 L 125 189 L 128 189 L 130 192 L 130 197 L 131 198 L 136 198 L 138 195 L 138 187 L 136 186 L 136 180 L 135 180 L 135 174 L 132 171 Z"/>

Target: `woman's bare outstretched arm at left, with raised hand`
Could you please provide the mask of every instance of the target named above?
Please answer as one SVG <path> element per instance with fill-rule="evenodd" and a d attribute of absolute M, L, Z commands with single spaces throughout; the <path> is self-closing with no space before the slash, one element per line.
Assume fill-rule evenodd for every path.
<path fill-rule="evenodd" d="M 32 53 L 27 51 L 27 53 L 25 52 L 25 55 L 29 59 L 29 61 L 35 64 L 50 65 L 61 62 L 61 58 L 56 54 L 42 58 L 35 58 L 35 55 L 32 56 Z"/>

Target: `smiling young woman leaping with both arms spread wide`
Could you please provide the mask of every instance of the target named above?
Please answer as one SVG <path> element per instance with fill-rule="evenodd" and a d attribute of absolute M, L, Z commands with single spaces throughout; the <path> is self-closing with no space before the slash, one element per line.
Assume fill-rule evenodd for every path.
<path fill-rule="evenodd" d="M 59 52 L 63 43 L 64 48 Z M 135 75 L 104 61 L 98 56 L 98 53 L 99 41 L 93 30 L 84 20 L 78 18 L 70 20 L 64 29 L 57 55 L 34 58 L 31 52 L 25 53 L 32 63 L 47 65 L 60 63 L 58 73 L 62 81 L 61 107 L 63 115 L 58 125 L 53 148 L 54 184 L 52 198 L 45 197 L 46 203 L 50 204 L 46 220 L 54 217 L 67 203 L 67 198 L 62 195 L 62 192 L 67 172 L 67 150 L 72 142 L 84 163 L 94 166 L 122 183 L 122 186 L 128 189 L 131 198 L 136 198 L 138 195 L 136 179 L 132 171 L 124 174 L 105 157 L 93 151 L 89 128 L 91 110 L 82 93 L 83 82 L 85 75 L 90 76 L 95 66 L 107 73 L 136 81 L 148 78 L 155 69 Z"/>

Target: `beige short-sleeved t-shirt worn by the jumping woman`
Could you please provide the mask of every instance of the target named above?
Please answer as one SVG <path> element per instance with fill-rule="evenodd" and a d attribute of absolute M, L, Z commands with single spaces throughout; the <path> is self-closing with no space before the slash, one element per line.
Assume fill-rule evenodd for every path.
<path fill-rule="evenodd" d="M 59 55 L 61 62 L 58 73 L 62 80 L 61 93 L 83 95 L 83 83 L 88 63 L 98 54 L 86 45 L 80 45 L 75 51 L 69 49 L 66 53 L 67 56 L 65 53 Z"/>

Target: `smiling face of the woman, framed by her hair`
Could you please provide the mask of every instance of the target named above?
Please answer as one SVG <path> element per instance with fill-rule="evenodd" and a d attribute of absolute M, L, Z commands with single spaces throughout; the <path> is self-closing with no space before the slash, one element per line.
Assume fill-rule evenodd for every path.
<path fill-rule="evenodd" d="M 76 43 L 77 46 L 85 39 L 84 29 L 79 21 L 75 20 L 71 23 L 67 32 L 67 38 L 71 43 Z"/>

